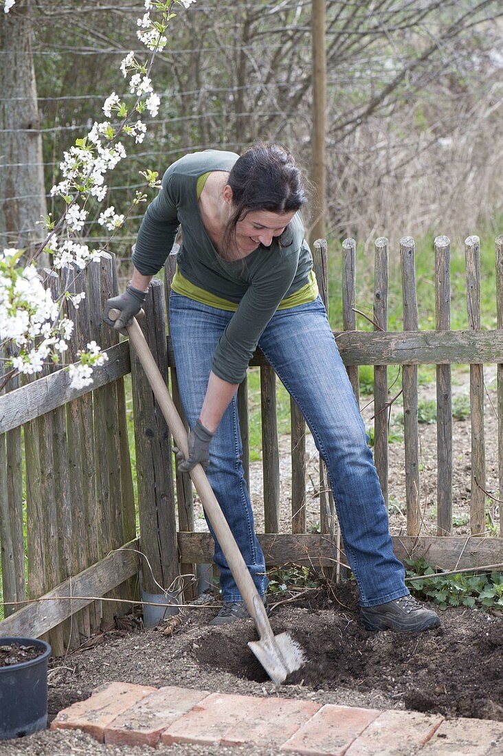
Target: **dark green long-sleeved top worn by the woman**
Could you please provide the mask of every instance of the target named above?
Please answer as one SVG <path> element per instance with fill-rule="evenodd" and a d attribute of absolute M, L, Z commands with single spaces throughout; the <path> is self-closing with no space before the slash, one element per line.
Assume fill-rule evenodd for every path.
<path fill-rule="evenodd" d="M 259 246 L 246 258 L 231 262 L 216 252 L 200 216 L 197 179 L 210 171 L 230 171 L 236 160 L 236 153 L 205 150 L 173 163 L 147 208 L 132 256 L 141 274 L 157 273 L 182 227 L 177 256 L 182 276 L 194 287 L 237 305 L 212 364 L 213 372 L 229 383 L 244 379 L 257 342 L 281 300 L 306 287 L 312 270 L 300 212 L 282 234 L 281 246 L 273 239 L 271 246 Z M 312 291 L 314 299 L 315 285 Z"/>

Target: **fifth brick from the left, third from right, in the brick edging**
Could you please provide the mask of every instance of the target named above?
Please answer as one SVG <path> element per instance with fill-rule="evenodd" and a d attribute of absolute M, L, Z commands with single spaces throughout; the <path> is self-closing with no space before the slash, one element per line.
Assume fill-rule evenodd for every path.
<path fill-rule="evenodd" d="M 305 756 L 343 756 L 379 714 L 376 709 L 326 704 L 280 750 Z"/>

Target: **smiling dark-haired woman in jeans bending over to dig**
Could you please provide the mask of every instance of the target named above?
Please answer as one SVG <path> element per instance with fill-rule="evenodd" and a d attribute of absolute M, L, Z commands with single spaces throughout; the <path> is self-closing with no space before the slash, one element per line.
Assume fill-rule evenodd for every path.
<path fill-rule="evenodd" d="M 166 171 L 147 208 L 132 280 L 107 301 L 104 319 L 123 329 L 138 314 L 181 227 L 169 326 L 191 431 L 179 469 L 206 468 L 264 603 L 268 581 L 241 464 L 236 399 L 257 345 L 328 467 L 362 623 L 369 630 L 438 627 L 438 615 L 409 595 L 393 554 L 365 426 L 318 296 L 300 212 L 305 203 L 300 169 L 278 145 L 259 143 L 241 157 L 219 150 L 185 155 Z M 121 311 L 115 323 L 112 308 Z M 249 617 L 216 540 L 214 559 L 224 604 L 210 624 Z"/>

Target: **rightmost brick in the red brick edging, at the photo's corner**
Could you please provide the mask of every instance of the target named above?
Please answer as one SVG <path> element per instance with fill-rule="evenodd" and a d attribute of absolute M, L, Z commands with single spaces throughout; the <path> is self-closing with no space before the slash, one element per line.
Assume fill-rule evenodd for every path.
<path fill-rule="evenodd" d="M 443 722 L 421 756 L 501 756 L 503 723 L 487 719 Z"/>

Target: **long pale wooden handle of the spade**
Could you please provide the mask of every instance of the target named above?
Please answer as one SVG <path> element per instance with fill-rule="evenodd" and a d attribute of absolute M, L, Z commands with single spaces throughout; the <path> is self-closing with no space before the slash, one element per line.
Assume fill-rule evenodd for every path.
<path fill-rule="evenodd" d="M 112 321 L 115 321 L 119 315 L 119 310 L 110 310 L 109 312 L 109 317 Z M 143 332 L 135 318 L 132 319 L 132 323 L 129 326 L 126 326 L 126 330 L 129 335 L 129 340 L 135 348 L 141 366 L 145 371 L 148 382 L 150 383 L 157 399 L 157 403 L 166 418 L 166 423 L 168 423 L 169 429 L 172 432 L 175 444 L 180 451 L 185 454 L 185 457 L 188 457 L 188 440 L 185 426 L 182 423 L 182 419 L 179 416 L 178 410 L 176 409 L 171 396 L 169 395 L 166 383 L 163 381 L 163 376 L 160 374 L 157 363 L 152 356 L 152 352 L 149 349 Z M 210 519 L 216 538 L 218 538 L 222 551 L 225 554 L 225 559 L 227 559 L 232 577 L 238 586 L 248 612 L 250 612 L 250 615 L 255 621 L 259 636 L 261 638 L 273 638 L 272 627 L 265 612 L 262 599 L 259 596 L 258 590 L 256 590 L 256 586 L 247 568 L 246 562 L 243 559 L 241 551 L 238 548 L 238 544 L 234 539 L 231 528 L 229 528 L 228 522 L 216 500 L 213 488 L 211 488 L 210 482 L 206 477 L 206 472 L 204 472 L 204 469 L 200 464 L 197 464 L 191 469 L 189 475 L 194 482 L 196 491 L 203 504 L 204 511 L 206 512 L 208 519 Z"/>

